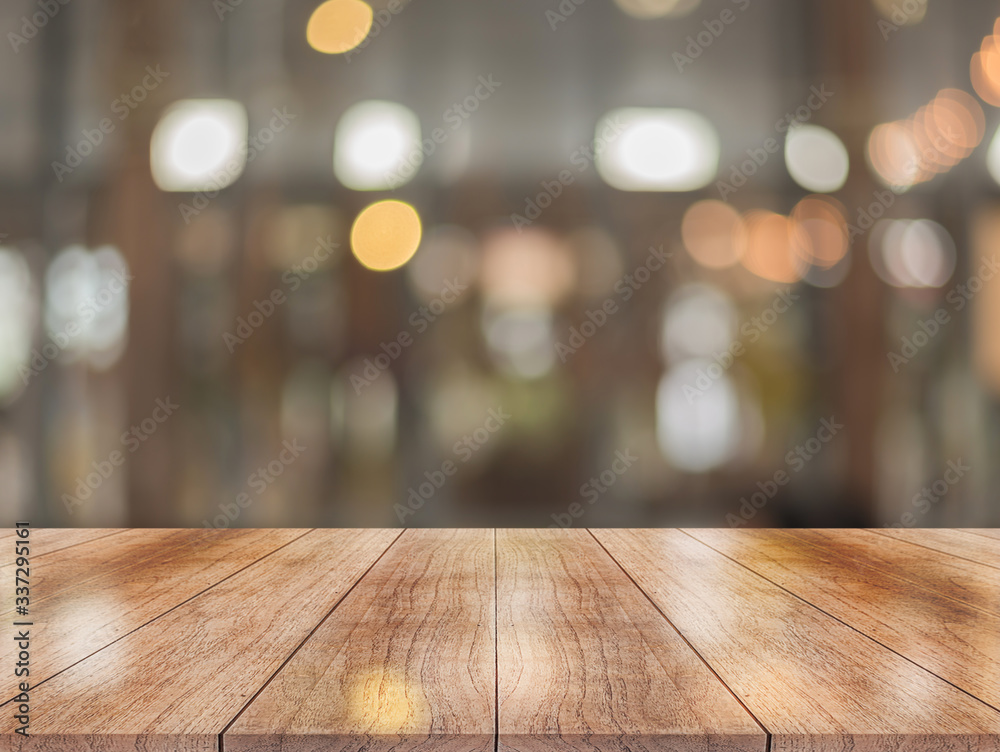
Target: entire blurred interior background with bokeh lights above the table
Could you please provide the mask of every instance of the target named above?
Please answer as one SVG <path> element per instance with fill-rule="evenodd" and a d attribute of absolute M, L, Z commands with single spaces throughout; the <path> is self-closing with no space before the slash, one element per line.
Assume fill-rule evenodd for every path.
<path fill-rule="evenodd" d="M 6 0 L 3 524 L 1000 524 L 998 12 Z"/>

